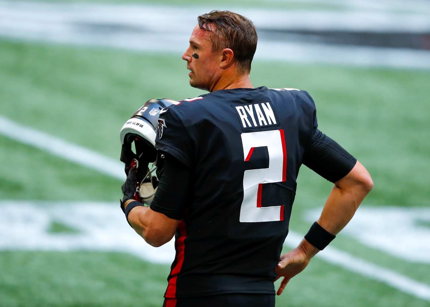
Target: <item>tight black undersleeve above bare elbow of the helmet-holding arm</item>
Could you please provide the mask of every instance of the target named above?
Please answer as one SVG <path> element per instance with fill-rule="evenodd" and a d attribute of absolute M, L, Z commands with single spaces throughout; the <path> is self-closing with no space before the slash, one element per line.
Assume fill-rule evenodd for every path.
<path fill-rule="evenodd" d="M 180 220 L 190 195 L 192 173 L 172 155 L 166 153 L 164 159 L 163 173 L 149 207 L 171 219 Z"/>

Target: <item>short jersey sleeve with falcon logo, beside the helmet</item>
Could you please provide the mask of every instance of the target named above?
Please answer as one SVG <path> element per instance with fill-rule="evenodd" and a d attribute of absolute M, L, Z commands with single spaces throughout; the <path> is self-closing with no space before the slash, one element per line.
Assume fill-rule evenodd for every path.
<path fill-rule="evenodd" d="M 160 114 L 157 130 L 155 148 L 168 152 L 185 166 L 192 167 L 193 142 L 181 119 L 172 109 Z"/>

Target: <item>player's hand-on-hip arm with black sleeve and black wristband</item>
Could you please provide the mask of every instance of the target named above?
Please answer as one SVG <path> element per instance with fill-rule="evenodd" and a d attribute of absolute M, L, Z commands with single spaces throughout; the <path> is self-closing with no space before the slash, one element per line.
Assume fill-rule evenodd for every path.
<path fill-rule="evenodd" d="M 277 278 L 284 278 L 277 295 L 280 295 L 289 280 L 303 271 L 310 259 L 347 225 L 373 188 L 372 178 L 365 167 L 318 130 L 311 151 L 304 163 L 324 178 L 334 181 L 335 185 L 327 198 L 321 217 L 305 236 L 312 244 L 305 238 L 297 248 L 281 256 L 276 273 Z M 345 171 L 347 174 L 343 176 Z M 334 178 L 339 176 L 341 179 L 335 181 Z"/>

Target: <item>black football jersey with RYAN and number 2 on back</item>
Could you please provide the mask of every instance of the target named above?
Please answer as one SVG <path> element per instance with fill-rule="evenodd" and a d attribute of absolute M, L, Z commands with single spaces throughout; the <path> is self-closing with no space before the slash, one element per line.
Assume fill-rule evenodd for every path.
<path fill-rule="evenodd" d="M 324 150 L 312 144 L 329 138 L 317 130 L 310 95 L 294 88 L 182 100 L 160 111 L 157 132 L 155 147 L 193 174 L 187 204 L 166 210 L 181 219 L 166 298 L 274 294 L 301 164 L 337 181 L 356 162 L 342 149 L 333 150 L 340 158 L 322 159 Z"/>

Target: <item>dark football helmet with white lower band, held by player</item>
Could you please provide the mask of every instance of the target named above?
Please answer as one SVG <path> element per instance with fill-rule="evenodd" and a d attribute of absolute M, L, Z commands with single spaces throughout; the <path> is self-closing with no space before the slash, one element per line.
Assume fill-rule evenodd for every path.
<path fill-rule="evenodd" d="M 163 167 L 163 156 L 158 154 L 154 146 L 157 130 L 160 131 L 161 137 L 166 124 L 164 124 L 164 119 L 161 119 L 163 123 L 160 124 L 158 117 L 161 110 L 166 110 L 165 108 L 172 104 L 178 104 L 178 102 L 167 98 L 148 100 L 126 121 L 120 131 L 122 144 L 120 160 L 125 164 L 126 175 L 130 171 L 133 159 L 136 159 L 138 164 L 143 166 L 138 168 L 136 174 L 136 194 L 145 204 L 150 204 L 154 198 L 158 185 L 157 177 L 160 178 Z M 133 142 L 135 152 L 132 151 Z M 147 167 L 150 163 L 153 164 L 152 170 Z M 155 168 L 157 168 L 157 177 L 151 175 Z"/>

